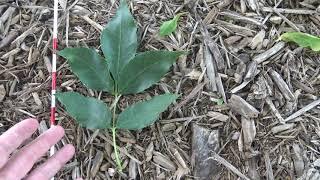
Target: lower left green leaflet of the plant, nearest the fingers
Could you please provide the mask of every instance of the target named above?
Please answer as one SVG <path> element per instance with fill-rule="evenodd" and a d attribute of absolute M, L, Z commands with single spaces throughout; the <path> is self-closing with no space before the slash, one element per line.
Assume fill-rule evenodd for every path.
<path fill-rule="evenodd" d="M 76 92 L 57 93 L 56 97 L 81 126 L 89 129 L 111 126 L 111 112 L 102 101 Z"/>

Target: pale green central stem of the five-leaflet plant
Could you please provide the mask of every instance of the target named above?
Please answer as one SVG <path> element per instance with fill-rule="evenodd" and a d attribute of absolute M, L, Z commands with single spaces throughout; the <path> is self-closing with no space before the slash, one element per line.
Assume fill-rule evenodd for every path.
<path fill-rule="evenodd" d="M 118 153 L 118 146 L 117 146 L 117 141 L 116 141 L 116 131 L 117 131 L 117 123 L 116 123 L 116 110 L 117 110 L 117 103 L 120 99 L 121 95 L 115 94 L 115 100 L 112 103 L 112 142 L 113 142 L 113 148 L 114 148 L 114 154 L 116 158 L 116 164 L 118 166 L 118 170 L 121 172 L 122 171 L 122 165 L 121 165 L 121 160 L 119 158 L 119 153 Z"/>

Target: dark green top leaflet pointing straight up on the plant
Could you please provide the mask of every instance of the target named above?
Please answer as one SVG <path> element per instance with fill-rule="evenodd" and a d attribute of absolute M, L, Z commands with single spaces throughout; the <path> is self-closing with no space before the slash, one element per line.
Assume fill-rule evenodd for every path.
<path fill-rule="evenodd" d="M 101 35 L 101 49 L 116 82 L 120 71 L 135 56 L 137 46 L 137 26 L 126 2 L 121 0 L 115 17 Z"/>

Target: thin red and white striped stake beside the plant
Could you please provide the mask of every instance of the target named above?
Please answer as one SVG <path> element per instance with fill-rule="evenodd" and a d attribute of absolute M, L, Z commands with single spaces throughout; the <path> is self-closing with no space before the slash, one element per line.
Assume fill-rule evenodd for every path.
<path fill-rule="evenodd" d="M 55 125 L 55 113 L 56 113 L 56 82 L 57 82 L 57 49 L 58 49 L 58 0 L 54 0 L 53 7 L 53 35 L 52 35 L 52 70 L 51 70 L 51 116 L 50 116 L 50 126 Z M 54 146 L 50 149 L 50 156 L 54 154 Z"/>

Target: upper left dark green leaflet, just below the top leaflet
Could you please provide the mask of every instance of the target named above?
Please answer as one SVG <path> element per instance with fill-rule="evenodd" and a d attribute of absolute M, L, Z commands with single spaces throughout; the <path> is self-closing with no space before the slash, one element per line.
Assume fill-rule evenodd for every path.
<path fill-rule="evenodd" d="M 65 48 L 59 55 L 66 58 L 73 73 L 94 90 L 113 91 L 113 80 L 107 62 L 94 49 Z"/>

